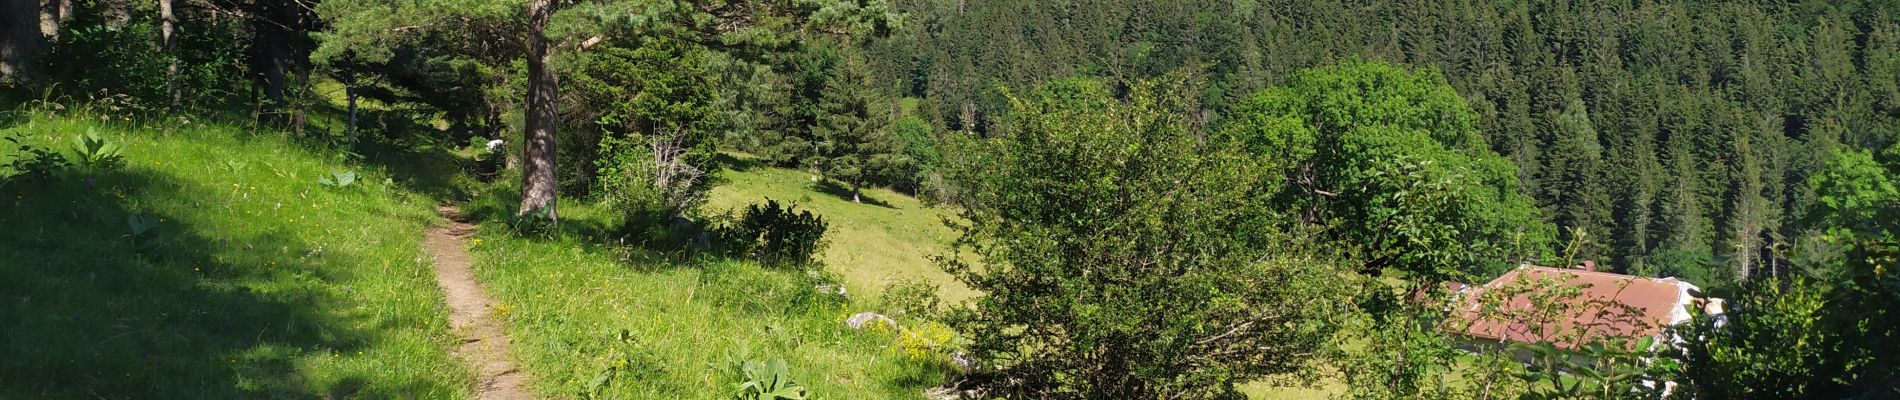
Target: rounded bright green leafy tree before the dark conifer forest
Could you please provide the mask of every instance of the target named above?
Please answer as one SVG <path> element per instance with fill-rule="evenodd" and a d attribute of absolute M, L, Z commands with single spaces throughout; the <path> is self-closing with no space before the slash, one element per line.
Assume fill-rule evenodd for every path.
<path fill-rule="evenodd" d="M 1271 176 L 1258 190 L 1273 199 L 1265 209 L 1322 226 L 1368 275 L 1482 277 L 1548 248 L 1516 167 L 1484 144 L 1476 114 L 1436 70 L 1302 70 L 1239 104 L 1220 136 Z"/>

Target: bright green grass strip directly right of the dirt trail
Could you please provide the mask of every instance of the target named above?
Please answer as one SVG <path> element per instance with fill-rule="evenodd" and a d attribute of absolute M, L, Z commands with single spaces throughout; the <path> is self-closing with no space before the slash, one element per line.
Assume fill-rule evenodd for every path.
<path fill-rule="evenodd" d="M 469 209 L 507 210 L 513 197 L 498 191 Z M 604 214 L 562 205 L 564 229 L 612 226 Z M 547 398 L 726 398 L 737 385 L 733 353 L 785 358 L 821 398 L 920 398 L 944 381 L 942 358 L 901 355 L 889 332 L 846 328 L 847 315 L 870 307 L 817 294 L 804 271 L 669 262 L 593 235 L 517 235 L 500 222 L 477 239 L 477 275 Z"/>

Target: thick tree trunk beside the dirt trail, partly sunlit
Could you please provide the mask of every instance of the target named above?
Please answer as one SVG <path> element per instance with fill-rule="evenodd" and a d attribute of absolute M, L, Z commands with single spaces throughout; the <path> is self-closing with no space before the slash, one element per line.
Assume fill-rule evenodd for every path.
<path fill-rule="evenodd" d="M 521 210 L 517 214 L 547 209 L 547 220 L 559 222 L 555 214 L 555 87 L 559 78 L 547 68 L 551 47 L 543 30 L 555 13 L 553 0 L 528 2 L 528 114 L 521 140 Z"/>

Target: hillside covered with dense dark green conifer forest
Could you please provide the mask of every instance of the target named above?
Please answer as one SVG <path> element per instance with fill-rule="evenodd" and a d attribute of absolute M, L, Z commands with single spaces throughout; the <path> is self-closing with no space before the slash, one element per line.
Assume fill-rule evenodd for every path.
<path fill-rule="evenodd" d="M 1894 2 L 904 0 L 864 47 L 887 95 L 986 135 L 1005 93 L 1189 68 L 1218 123 L 1300 68 L 1433 68 L 1560 241 L 1619 271 L 1788 273 L 1837 148 L 1900 136 Z"/>

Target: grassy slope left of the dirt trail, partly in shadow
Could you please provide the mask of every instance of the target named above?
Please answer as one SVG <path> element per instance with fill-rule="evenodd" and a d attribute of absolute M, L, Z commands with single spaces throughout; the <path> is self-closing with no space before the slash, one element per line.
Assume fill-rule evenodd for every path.
<path fill-rule="evenodd" d="M 124 169 L 0 188 L 0 398 L 469 394 L 418 245 L 429 197 L 372 167 L 319 186 L 350 163 L 232 127 L 6 135 L 66 148 L 87 127 Z M 127 239 L 135 212 L 160 218 L 156 246 Z"/>

